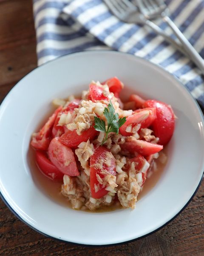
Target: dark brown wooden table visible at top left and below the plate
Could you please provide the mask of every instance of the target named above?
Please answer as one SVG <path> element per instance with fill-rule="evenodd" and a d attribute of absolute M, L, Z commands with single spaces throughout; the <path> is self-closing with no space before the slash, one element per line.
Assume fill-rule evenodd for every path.
<path fill-rule="evenodd" d="M 0 102 L 37 66 L 31 0 L 0 0 Z M 193 171 L 193 170 L 192 170 Z M 110 247 L 49 239 L 21 222 L 0 199 L 0 255 L 204 256 L 204 182 L 184 211 L 146 238 Z"/>

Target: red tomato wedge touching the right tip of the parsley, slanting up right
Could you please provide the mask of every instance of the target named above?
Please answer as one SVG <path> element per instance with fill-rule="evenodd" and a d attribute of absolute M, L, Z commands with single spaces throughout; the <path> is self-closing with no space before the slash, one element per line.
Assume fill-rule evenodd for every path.
<path fill-rule="evenodd" d="M 141 124 L 141 127 L 147 127 L 151 124 L 156 117 L 156 112 L 154 108 L 145 108 L 134 111 L 131 116 L 127 116 L 126 122 L 119 128 L 120 133 L 123 136 L 130 136 L 132 133 L 125 131 L 128 125 Z"/>

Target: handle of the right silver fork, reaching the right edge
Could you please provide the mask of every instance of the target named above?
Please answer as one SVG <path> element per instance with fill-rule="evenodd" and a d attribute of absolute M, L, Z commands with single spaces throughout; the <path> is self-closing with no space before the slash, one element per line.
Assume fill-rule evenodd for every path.
<path fill-rule="evenodd" d="M 188 52 L 191 60 L 200 68 L 201 72 L 204 74 L 204 60 L 195 50 L 195 48 L 190 44 L 190 42 L 184 37 L 178 27 L 173 23 L 173 21 L 168 16 L 163 16 L 163 20 L 170 26 L 174 34 L 181 41 L 184 49 Z"/>

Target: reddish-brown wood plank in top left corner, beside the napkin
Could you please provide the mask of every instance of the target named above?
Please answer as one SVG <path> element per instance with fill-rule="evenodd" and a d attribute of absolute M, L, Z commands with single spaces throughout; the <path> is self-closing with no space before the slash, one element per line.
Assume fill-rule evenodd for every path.
<path fill-rule="evenodd" d="M 31 0 L 0 2 L 0 86 L 37 66 Z"/>

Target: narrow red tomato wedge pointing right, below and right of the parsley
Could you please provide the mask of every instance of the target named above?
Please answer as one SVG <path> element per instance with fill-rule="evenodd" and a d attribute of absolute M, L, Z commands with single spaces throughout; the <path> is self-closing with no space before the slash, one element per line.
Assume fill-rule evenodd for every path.
<path fill-rule="evenodd" d="M 130 136 L 127 138 L 126 142 L 122 144 L 122 147 L 131 153 L 137 152 L 142 156 L 149 156 L 150 154 L 155 154 L 163 148 L 162 145 L 153 144 L 144 140 L 136 140 L 136 138 Z"/>

